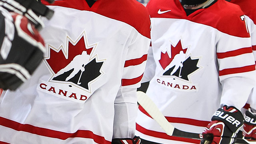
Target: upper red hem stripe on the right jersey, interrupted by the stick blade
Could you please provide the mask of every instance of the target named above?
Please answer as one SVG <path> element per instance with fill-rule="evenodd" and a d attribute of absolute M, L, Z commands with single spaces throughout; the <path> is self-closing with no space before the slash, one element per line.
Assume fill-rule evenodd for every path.
<path fill-rule="evenodd" d="M 139 110 L 152 118 L 142 106 L 139 106 Z M 206 127 L 210 122 L 209 121 L 203 121 L 203 120 L 195 120 L 191 118 L 177 118 L 177 117 L 170 117 L 170 116 L 165 116 L 165 118 L 168 120 L 168 122 L 173 122 L 173 123 L 180 123 L 180 124 L 189 124 L 192 126 L 202 126 Z"/>

